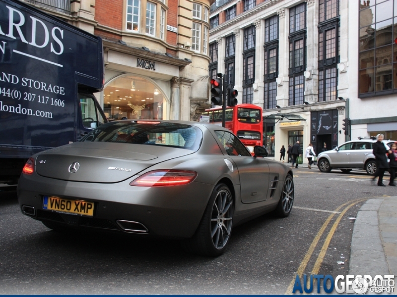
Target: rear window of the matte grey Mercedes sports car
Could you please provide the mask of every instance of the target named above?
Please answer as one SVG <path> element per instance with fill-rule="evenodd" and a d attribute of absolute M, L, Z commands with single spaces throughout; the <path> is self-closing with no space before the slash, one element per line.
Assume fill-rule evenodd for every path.
<path fill-rule="evenodd" d="M 91 131 L 80 141 L 156 145 L 196 151 L 200 147 L 201 140 L 201 130 L 186 124 L 169 122 L 142 124 L 123 121 L 104 124 Z"/>

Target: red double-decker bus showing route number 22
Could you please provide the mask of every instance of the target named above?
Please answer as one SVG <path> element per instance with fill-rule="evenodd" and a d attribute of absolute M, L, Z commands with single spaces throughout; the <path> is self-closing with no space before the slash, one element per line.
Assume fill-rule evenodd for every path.
<path fill-rule="evenodd" d="M 210 123 L 222 126 L 222 107 L 207 109 L 203 115 L 210 116 Z M 256 105 L 226 107 L 225 128 L 237 135 L 251 153 L 255 145 L 263 145 L 262 109 Z"/>

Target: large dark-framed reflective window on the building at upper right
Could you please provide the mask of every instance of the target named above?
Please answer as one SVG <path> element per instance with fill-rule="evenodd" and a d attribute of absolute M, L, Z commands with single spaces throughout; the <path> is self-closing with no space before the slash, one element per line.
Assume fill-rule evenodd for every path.
<path fill-rule="evenodd" d="M 393 1 L 360 4 L 358 97 L 397 93 L 397 10 Z M 397 1 L 394 1 L 394 7 Z M 394 19 L 393 19 L 394 17 Z"/>

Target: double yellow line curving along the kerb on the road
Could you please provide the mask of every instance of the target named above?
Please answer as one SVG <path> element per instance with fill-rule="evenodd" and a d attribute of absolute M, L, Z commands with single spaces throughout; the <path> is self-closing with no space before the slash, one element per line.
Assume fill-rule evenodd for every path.
<path fill-rule="evenodd" d="M 358 202 L 362 202 L 364 200 L 369 199 L 368 198 L 360 198 L 360 199 L 355 199 L 355 200 L 351 200 L 349 202 L 346 202 L 344 204 L 342 204 L 341 206 L 339 206 L 338 208 L 335 209 L 335 211 L 339 211 L 341 210 L 343 207 L 345 207 L 345 209 L 343 209 L 343 211 L 341 213 L 339 213 L 337 219 L 335 220 L 335 223 L 333 223 L 330 232 L 328 232 L 328 236 L 326 238 L 326 240 L 324 241 L 324 244 L 321 248 L 320 253 L 318 254 L 316 263 L 314 263 L 313 269 L 311 274 L 318 274 L 318 271 L 320 270 L 322 261 L 324 260 L 325 254 L 327 252 L 328 246 L 330 245 L 331 239 L 333 234 L 335 233 L 336 228 L 339 225 L 339 222 L 341 221 L 343 215 L 345 215 L 345 213 L 355 204 L 357 204 Z M 312 254 L 314 252 L 314 249 L 316 248 L 318 242 L 320 241 L 320 238 L 322 237 L 322 235 L 324 234 L 324 231 L 326 230 L 326 228 L 328 227 L 328 225 L 330 224 L 331 220 L 333 219 L 333 217 L 335 216 L 336 213 L 331 213 L 330 216 L 326 219 L 326 221 L 324 222 L 324 224 L 321 226 L 320 230 L 318 230 L 316 237 L 314 237 L 312 244 L 310 244 L 309 249 L 306 252 L 306 255 L 304 255 L 303 260 L 301 262 L 301 265 L 299 265 L 299 268 L 297 270 L 297 274 L 299 275 L 299 278 L 302 277 L 302 274 L 304 272 L 304 270 L 306 269 L 306 266 L 310 260 L 310 258 L 312 257 Z M 292 294 L 292 289 L 294 287 L 295 284 L 295 278 L 296 276 L 293 278 L 293 280 L 291 281 L 291 283 L 289 284 L 287 291 L 285 291 L 285 295 L 291 295 Z"/>

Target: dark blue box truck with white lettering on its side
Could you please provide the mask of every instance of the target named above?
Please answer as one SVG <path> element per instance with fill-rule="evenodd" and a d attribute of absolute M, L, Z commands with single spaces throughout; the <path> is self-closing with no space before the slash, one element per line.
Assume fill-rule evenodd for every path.
<path fill-rule="evenodd" d="M 33 154 L 78 141 L 107 119 L 100 37 L 18 0 L 0 0 L 0 183 Z"/>

